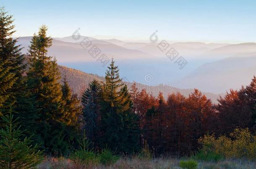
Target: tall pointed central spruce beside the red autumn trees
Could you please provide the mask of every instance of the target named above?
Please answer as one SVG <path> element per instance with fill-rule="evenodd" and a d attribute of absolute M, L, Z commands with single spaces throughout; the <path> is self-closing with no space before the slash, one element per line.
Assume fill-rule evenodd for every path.
<path fill-rule="evenodd" d="M 138 150 L 138 118 L 132 112 L 127 86 L 119 76 L 114 61 L 108 66 L 101 101 L 101 144 L 116 152 L 132 153 Z"/>

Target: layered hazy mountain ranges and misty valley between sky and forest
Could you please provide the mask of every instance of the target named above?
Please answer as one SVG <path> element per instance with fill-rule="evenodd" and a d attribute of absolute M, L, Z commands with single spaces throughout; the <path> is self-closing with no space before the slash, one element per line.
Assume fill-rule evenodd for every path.
<path fill-rule="evenodd" d="M 101 53 L 98 56 L 90 55 L 90 49 L 85 50 L 81 46 L 84 38 L 91 40 L 91 47 L 95 45 L 99 48 Z M 30 40 L 31 37 L 18 39 L 18 45 L 24 47 L 22 53 L 27 53 Z M 150 74 L 154 78 L 148 85 L 172 83 L 179 88 L 198 88 L 215 94 L 246 85 L 256 73 L 256 64 L 252 65 L 255 61 L 250 58 L 256 55 L 256 43 L 169 43 L 168 49 L 174 48 L 187 61 L 187 65 L 180 69 L 175 60 L 167 58 L 166 51 L 159 49 L 160 42 L 125 42 L 82 35 L 76 40 L 68 36 L 53 38 L 48 55 L 55 57 L 60 65 L 104 76 L 107 64 L 102 66 L 98 60 L 104 54 L 109 59 L 115 58 L 121 69 L 120 76 L 130 81 L 143 83 L 144 77 Z M 77 85 L 74 85 L 74 90 L 78 92 Z"/>

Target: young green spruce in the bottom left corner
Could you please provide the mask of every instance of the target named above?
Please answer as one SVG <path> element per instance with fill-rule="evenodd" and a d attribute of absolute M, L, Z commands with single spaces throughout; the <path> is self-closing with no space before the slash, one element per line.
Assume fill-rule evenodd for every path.
<path fill-rule="evenodd" d="M 2 119 L 7 125 L 0 130 L 0 168 L 31 168 L 39 164 L 42 152 L 37 150 L 37 144 L 32 146 L 30 138 L 20 139 L 23 132 L 18 127 L 17 119 L 13 120 L 11 112 L 9 118 Z"/>

